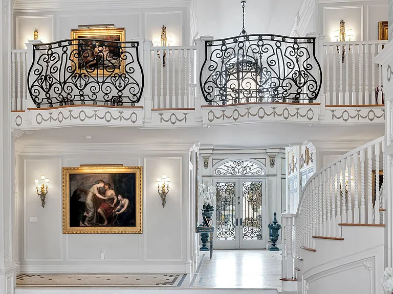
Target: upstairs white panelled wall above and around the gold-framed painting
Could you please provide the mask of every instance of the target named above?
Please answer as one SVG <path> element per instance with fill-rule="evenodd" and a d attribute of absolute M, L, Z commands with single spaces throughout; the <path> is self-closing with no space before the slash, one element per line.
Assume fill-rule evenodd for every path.
<path fill-rule="evenodd" d="M 190 19 L 186 7 L 145 8 L 123 10 L 83 10 L 17 12 L 14 13 L 14 42 L 16 49 L 25 49 L 26 39 L 33 39 L 35 28 L 43 42 L 69 39 L 71 29 L 79 25 L 115 24 L 125 28 L 126 41 L 135 38 L 153 40 L 161 36 L 161 27 L 165 24 L 167 35 L 172 38 L 172 45 L 189 45 Z"/>

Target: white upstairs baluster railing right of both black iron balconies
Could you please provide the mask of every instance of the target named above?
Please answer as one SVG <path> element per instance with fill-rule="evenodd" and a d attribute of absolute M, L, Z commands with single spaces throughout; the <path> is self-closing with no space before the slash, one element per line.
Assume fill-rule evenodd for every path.
<path fill-rule="evenodd" d="M 326 105 L 383 105 L 382 68 L 374 59 L 386 43 L 323 44 Z"/>

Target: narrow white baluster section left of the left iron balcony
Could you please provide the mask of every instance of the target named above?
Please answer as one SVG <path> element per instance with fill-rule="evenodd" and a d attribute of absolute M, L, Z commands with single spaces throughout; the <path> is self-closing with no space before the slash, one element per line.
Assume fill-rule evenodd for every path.
<path fill-rule="evenodd" d="M 27 50 L 11 52 L 11 106 L 13 111 L 25 110 L 27 97 Z"/>

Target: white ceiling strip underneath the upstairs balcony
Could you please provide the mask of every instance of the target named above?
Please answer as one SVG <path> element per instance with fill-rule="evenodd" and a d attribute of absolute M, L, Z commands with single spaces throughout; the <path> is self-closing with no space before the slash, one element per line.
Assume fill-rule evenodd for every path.
<path fill-rule="evenodd" d="M 133 143 L 133 144 L 213 144 L 217 148 L 269 148 L 301 144 L 305 140 L 337 142 L 370 141 L 384 135 L 380 125 L 321 126 L 308 124 L 263 123 L 212 126 L 210 128 L 138 129 L 111 127 L 68 127 L 34 131 L 18 142 L 27 145 L 56 145 L 75 143 Z M 92 136 L 86 140 L 86 136 Z M 331 143 L 330 143 L 331 145 Z"/>

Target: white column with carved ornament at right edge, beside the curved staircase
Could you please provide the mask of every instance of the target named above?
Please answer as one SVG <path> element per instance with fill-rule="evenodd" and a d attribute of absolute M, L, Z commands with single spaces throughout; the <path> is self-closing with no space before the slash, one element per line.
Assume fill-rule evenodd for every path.
<path fill-rule="evenodd" d="M 389 5 L 389 36 L 391 36 L 393 28 L 391 23 L 393 21 L 393 0 L 388 0 Z M 389 40 L 391 38 L 389 37 Z M 385 244 L 385 267 L 393 266 L 393 42 L 385 45 L 384 50 L 375 58 L 377 64 L 382 65 L 383 74 L 383 93 L 385 95 L 385 170 L 384 170 L 384 183 L 385 183 L 385 203 L 383 207 L 386 208 L 385 230 L 387 236 L 387 243 Z"/>

